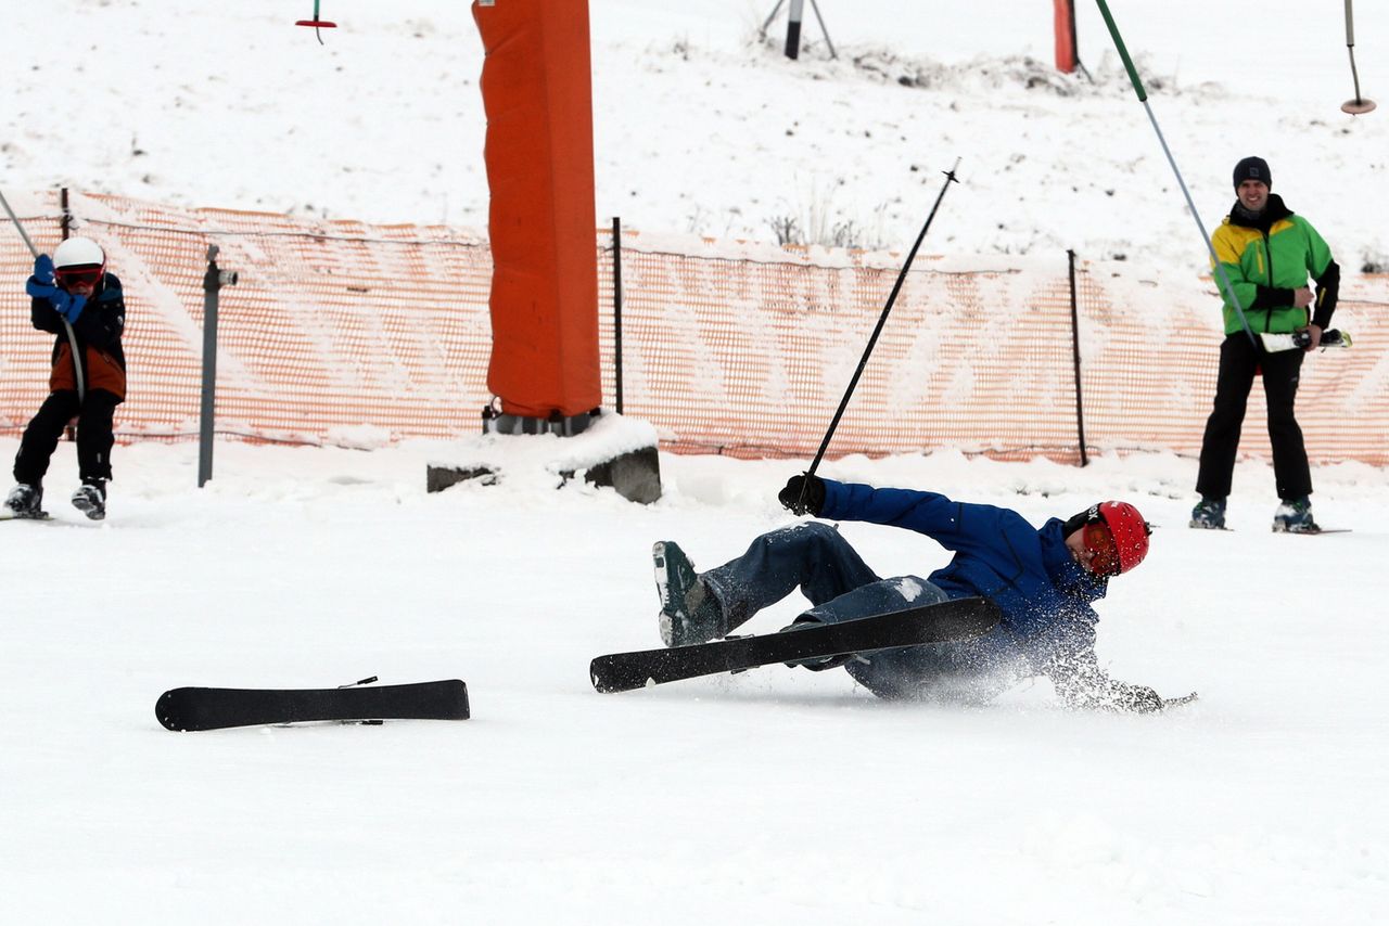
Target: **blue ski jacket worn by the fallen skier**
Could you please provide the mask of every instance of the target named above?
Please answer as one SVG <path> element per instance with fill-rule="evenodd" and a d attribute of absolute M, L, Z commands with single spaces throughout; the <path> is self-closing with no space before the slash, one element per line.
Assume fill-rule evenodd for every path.
<path fill-rule="evenodd" d="M 906 528 L 954 551 L 928 580 L 950 598 L 983 596 L 1003 611 L 1000 626 L 981 640 L 986 662 L 1021 655 L 1033 673 L 1053 679 L 1074 675 L 1078 665 L 1093 672 L 1099 615 L 1090 604 L 1104 597 L 1108 580 L 1071 558 L 1060 518 L 1039 530 L 1010 508 L 933 491 L 824 483 L 821 518 Z"/>

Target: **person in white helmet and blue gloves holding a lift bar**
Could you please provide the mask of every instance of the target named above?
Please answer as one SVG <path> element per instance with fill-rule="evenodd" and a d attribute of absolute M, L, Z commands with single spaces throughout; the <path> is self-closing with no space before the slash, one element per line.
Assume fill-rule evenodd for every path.
<path fill-rule="evenodd" d="M 111 479 L 111 419 L 125 400 L 125 297 L 121 280 L 106 272 L 106 253 L 86 237 L 69 237 L 58 244 L 50 258 L 33 260 L 33 276 L 25 283 L 32 297 L 29 315 L 33 326 L 57 335 L 53 346 L 53 373 L 49 397 L 39 407 L 19 441 L 14 458 L 15 487 L 4 507 L 11 518 L 42 518 L 43 476 L 57 450 L 63 429 L 78 419 L 78 469 L 82 485 L 72 493 L 72 504 L 88 518 L 106 516 L 106 483 Z M 67 326 L 78 344 L 72 357 Z M 78 394 L 76 371 L 81 364 L 85 396 Z"/>

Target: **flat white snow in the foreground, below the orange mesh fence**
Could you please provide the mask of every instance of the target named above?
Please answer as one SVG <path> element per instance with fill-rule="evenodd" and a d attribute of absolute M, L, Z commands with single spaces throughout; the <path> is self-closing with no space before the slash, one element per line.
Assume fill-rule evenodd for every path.
<path fill-rule="evenodd" d="M 1183 528 L 1193 465 L 847 458 L 826 473 L 1020 508 L 1103 497 L 1158 528 L 1113 583 L 1100 657 L 1201 700 L 1163 716 L 875 701 L 771 666 L 596 694 L 588 661 L 658 646 L 654 540 L 701 566 L 790 522 L 793 461 L 663 460 L 651 507 L 508 479 L 426 496 L 451 451 L 121 448 L 111 518 L 63 498 L 0 525 L 0 920 L 7 923 L 1379 923 L 1389 909 L 1389 490 L 1321 469 L 1318 516 Z M 550 439 L 553 440 L 553 439 Z M 0 440 L 0 458 L 15 450 Z M 551 480 L 550 485 L 554 485 Z M 879 575 L 925 537 L 840 526 Z M 770 632 L 788 600 L 747 629 Z M 172 734 L 182 684 L 463 677 L 465 723 Z"/>

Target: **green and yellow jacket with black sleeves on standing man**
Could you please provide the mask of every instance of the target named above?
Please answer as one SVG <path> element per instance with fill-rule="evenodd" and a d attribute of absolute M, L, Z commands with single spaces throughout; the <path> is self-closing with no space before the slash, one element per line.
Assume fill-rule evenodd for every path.
<path fill-rule="evenodd" d="M 1249 326 L 1254 333 L 1278 335 L 1306 328 L 1307 310 L 1293 307 L 1293 290 L 1306 286 L 1310 273 L 1317 280 L 1311 322 L 1325 330 L 1340 290 L 1340 268 L 1331 260 L 1331 247 L 1311 222 L 1283 205 L 1281 196 L 1271 193 L 1257 218 L 1246 215 L 1236 200 L 1235 208 L 1211 236 L 1211 244 L 1229 275 Z M 1239 314 L 1231 307 L 1220 276 L 1215 285 L 1221 289 L 1225 333 L 1239 333 L 1243 330 Z"/>

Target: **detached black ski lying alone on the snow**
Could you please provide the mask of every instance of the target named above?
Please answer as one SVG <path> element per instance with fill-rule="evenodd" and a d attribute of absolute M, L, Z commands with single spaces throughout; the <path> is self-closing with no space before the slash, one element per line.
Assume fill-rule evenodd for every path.
<path fill-rule="evenodd" d="M 375 679 L 368 679 L 374 682 Z M 169 730 L 217 730 L 303 721 L 467 721 L 460 679 L 342 689 L 174 689 L 154 715 Z"/>

